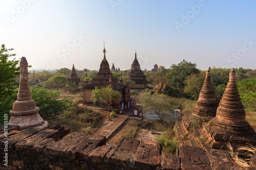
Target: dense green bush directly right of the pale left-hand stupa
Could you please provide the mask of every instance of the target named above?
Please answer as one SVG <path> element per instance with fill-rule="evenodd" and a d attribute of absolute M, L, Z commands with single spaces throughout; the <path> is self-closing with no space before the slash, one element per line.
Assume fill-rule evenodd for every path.
<path fill-rule="evenodd" d="M 39 86 L 30 87 L 32 99 L 39 107 L 39 114 L 43 119 L 50 120 L 56 115 L 67 110 L 72 101 L 68 99 L 58 100 L 60 91 L 52 91 Z"/>

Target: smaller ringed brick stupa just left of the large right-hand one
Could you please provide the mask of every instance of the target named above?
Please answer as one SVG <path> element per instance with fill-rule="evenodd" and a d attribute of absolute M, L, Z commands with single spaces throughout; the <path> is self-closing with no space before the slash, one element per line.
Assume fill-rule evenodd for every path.
<path fill-rule="evenodd" d="M 216 110 L 218 108 L 218 102 L 215 98 L 214 87 L 210 81 L 210 67 L 206 71 L 206 76 L 202 90 L 199 94 L 199 99 L 196 106 L 192 110 L 192 113 L 199 116 L 216 116 Z"/>

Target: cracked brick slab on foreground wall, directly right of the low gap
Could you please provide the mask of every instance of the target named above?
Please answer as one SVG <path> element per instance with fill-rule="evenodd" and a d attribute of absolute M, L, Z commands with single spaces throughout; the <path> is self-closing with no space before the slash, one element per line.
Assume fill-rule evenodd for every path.
<path fill-rule="evenodd" d="M 202 148 L 180 147 L 180 158 L 182 169 L 211 169 L 206 152 Z"/>

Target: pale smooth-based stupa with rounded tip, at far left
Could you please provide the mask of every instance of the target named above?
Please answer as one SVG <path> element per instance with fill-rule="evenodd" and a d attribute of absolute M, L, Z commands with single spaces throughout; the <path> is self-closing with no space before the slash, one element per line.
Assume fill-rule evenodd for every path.
<path fill-rule="evenodd" d="M 29 88 L 28 62 L 22 57 L 19 63 L 20 81 L 17 100 L 10 111 L 11 118 L 8 125 L 17 125 L 20 129 L 36 128 L 38 130 L 48 128 L 48 122 L 42 119 L 38 113 L 35 101 L 32 99 Z"/>

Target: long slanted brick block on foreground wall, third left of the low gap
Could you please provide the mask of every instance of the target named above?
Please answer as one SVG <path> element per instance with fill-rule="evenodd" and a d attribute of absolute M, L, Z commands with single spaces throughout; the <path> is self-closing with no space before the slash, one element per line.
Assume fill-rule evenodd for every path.
<path fill-rule="evenodd" d="M 89 154 L 97 147 L 106 144 L 106 137 L 87 135 L 67 150 L 69 159 L 86 160 Z"/>

